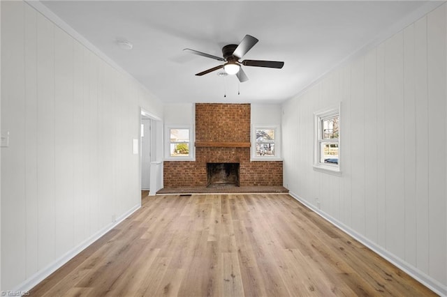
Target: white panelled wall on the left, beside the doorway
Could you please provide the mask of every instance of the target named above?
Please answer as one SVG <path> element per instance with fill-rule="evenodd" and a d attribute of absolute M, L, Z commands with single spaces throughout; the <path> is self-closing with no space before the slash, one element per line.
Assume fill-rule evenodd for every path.
<path fill-rule="evenodd" d="M 161 102 L 22 1 L 1 1 L 1 290 L 30 289 L 140 206 Z"/>

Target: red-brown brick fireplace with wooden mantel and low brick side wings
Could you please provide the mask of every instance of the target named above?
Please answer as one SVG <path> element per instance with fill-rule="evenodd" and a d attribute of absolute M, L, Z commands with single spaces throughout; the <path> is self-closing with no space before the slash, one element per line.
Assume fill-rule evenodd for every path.
<path fill-rule="evenodd" d="M 237 163 L 239 185 L 282 185 L 282 161 L 250 161 L 250 105 L 196 104 L 196 161 L 165 161 L 164 188 L 206 187 L 207 164 Z"/>

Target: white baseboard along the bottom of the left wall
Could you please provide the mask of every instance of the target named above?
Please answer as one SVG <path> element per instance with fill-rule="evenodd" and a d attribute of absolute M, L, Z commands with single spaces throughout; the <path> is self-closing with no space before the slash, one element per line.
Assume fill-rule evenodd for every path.
<path fill-rule="evenodd" d="M 120 222 L 122 222 L 123 220 L 128 218 L 129 215 L 131 215 L 132 213 L 137 211 L 140 207 L 141 207 L 141 204 L 137 204 L 137 205 L 133 206 L 129 211 L 127 211 L 126 213 L 121 215 L 119 218 L 117 218 L 117 220 L 115 220 L 115 222 L 111 222 L 106 227 L 104 227 L 103 229 L 96 232 L 96 234 L 90 236 L 89 238 L 87 238 L 87 240 L 85 240 L 82 243 L 80 243 L 79 245 L 75 246 L 75 248 L 69 250 L 68 252 L 66 252 L 66 254 L 59 257 L 59 259 L 56 259 L 49 265 L 45 266 L 45 268 L 42 268 L 40 271 L 37 271 L 36 273 L 34 273 L 34 275 L 31 275 L 31 277 L 27 278 L 27 280 L 24 280 L 24 282 L 19 284 L 14 289 L 11 289 L 10 291 L 12 291 L 12 292 L 27 292 L 27 291 L 31 290 L 32 288 L 36 287 L 36 285 L 39 282 L 42 282 L 43 280 L 45 280 L 46 277 L 48 277 L 50 274 L 54 273 L 54 271 L 57 271 L 57 269 L 61 268 L 61 266 L 63 266 L 68 261 L 73 259 L 73 257 L 75 257 L 77 254 L 82 252 L 82 250 L 85 250 L 85 248 L 87 248 L 89 245 L 91 245 L 91 243 L 94 243 L 99 238 L 101 238 L 101 236 L 103 236 L 108 231 L 115 228 L 115 226 L 117 226 L 117 224 L 119 224 Z"/>

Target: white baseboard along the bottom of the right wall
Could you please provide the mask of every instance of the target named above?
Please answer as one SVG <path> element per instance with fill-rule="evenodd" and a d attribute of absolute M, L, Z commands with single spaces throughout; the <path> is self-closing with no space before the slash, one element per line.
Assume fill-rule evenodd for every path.
<path fill-rule="evenodd" d="M 339 220 L 332 218 L 330 215 L 328 215 L 324 211 L 321 211 L 318 208 L 316 208 L 314 205 L 309 204 L 308 201 L 306 201 L 305 199 L 302 199 L 300 196 L 296 195 L 295 193 L 288 192 L 288 194 L 291 195 L 291 197 L 293 197 L 293 199 L 300 201 L 307 208 L 311 209 L 312 211 L 314 211 L 315 213 L 320 215 L 321 218 L 327 220 L 328 222 L 333 224 L 335 227 L 341 229 L 346 234 L 349 234 L 350 236 L 355 238 L 357 241 L 360 241 L 360 243 L 367 246 L 367 248 L 373 250 L 374 252 L 379 254 L 384 259 L 390 261 L 392 264 L 394 264 L 398 268 L 402 269 L 402 271 L 405 271 L 406 273 L 411 275 L 411 277 L 418 280 L 418 282 L 420 282 L 421 284 L 424 284 L 425 287 L 428 287 L 429 289 L 434 291 L 434 293 L 438 294 L 439 296 L 447 296 L 447 286 L 446 285 L 441 284 L 441 282 L 434 280 L 434 278 L 430 277 L 430 275 L 427 275 L 423 271 L 420 271 L 418 268 L 406 263 L 399 257 L 396 257 L 395 254 L 391 254 L 390 252 L 388 252 L 388 250 L 385 250 L 380 245 L 377 245 L 376 243 L 370 241 L 365 236 L 362 236 L 362 234 L 358 234 L 356 231 L 349 228 L 348 226 L 346 226 Z"/>

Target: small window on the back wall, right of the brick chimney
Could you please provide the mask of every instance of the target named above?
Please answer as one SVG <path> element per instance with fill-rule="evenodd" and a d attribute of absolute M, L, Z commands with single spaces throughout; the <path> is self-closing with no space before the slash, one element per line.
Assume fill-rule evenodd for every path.
<path fill-rule="evenodd" d="M 279 160 L 279 128 L 277 126 L 270 127 L 253 127 L 253 137 L 251 142 L 251 159 L 252 160 Z"/>

